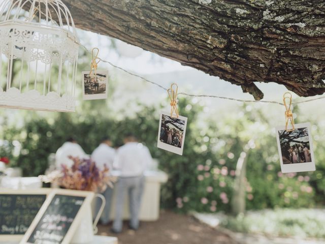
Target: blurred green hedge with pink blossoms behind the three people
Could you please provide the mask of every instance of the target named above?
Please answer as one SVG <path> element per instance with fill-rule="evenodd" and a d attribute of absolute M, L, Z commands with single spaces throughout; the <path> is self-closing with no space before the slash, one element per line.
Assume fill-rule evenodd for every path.
<path fill-rule="evenodd" d="M 283 175 L 275 131 L 262 109 L 242 105 L 220 119 L 217 114 L 204 117 L 201 105 L 180 99 L 180 114 L 188 117 L 183 156 L 156 147 L 160 109 L 139 105 L 133 116 L 121 119 L 111 113 L 105 102 L 89 101 L 76 113 L 17 113 L 17 117 L 24 113 L 20 126 L 14 123 L 16 117 L 9 123 L 9 118 L 3 116 L 1 133 L 8 144 L 21 143 L 20 155 L 12 158 L 12 165 L 21 167 L 25 176 L 37 176 L 46 170 L 49 154 L 55 153 L 67 137 L 74 136 L 91 154 L 104 136 L 110 136 L 119 146 L 123 135 L 132 132 L 149 147 L 152 156 L 159 160 L 160 169 L 169 175 L 161 190 L 162 206 L 179 211 L 230 212 L 237 160 L 245 151 L 247 209 L 312 207 L 323 203 L 325 154 L 321 137 L 315 138 L 314 143 L 319 159 L 317 171 Z M 325 123 L 314 129 L 321 134 L 323 127 Z"/>

